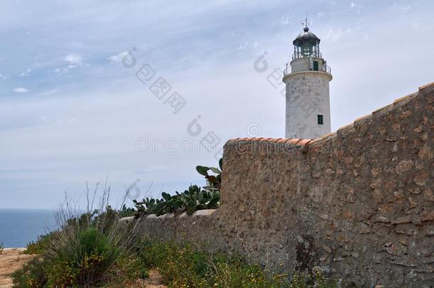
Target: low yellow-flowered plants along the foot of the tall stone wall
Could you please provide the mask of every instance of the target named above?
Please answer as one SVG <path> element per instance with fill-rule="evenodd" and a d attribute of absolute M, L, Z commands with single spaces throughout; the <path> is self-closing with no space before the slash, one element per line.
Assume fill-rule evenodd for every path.
<path fill-rule="evenodd" d="M 193 245 L 143 241 L 139 250 L 142 265 L 156 267 L 169 287 L 288 287 L 332 288 L 335 279 L 314 274 L 277 274 L 242 257 L 209 253 Z"/>

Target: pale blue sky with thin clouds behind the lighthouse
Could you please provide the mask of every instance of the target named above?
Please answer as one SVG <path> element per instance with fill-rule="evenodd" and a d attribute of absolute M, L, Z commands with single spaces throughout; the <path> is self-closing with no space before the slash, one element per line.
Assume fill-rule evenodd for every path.
<path fill-rule="evenodd" d="M 0 0 L 0 208 L 83 203 L 106 181 L 116 203 L 184 191 L 228 139 L 285 137 L 270 75 L 306 16 L 336 131 L 434 80 L 433 14 L 431 0 Z"/>

